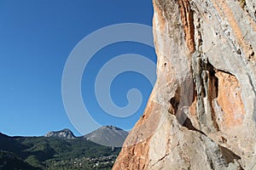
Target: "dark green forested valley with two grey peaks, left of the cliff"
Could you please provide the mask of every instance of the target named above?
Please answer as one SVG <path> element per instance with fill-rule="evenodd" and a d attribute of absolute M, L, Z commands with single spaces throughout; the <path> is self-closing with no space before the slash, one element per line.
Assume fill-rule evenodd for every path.
<path fill-rule="evenodd" d="M 100 127 L 81 137 L 69 129 L 42 137 L 0 133 L 0 169 L 111 169 L 127 135 L 113 126 Z"/>

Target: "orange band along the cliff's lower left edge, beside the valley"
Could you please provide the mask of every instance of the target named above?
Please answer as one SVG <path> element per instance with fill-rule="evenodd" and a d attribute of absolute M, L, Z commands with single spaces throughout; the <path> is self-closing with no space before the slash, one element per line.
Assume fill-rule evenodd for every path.
<path fill-rule="evenodd" d="M 148 165 L 148 141 L 159 126 L 159 122 L 160 105 L 149 101 L 143 116 L 125 139 L 113 170 L 143 169 Z"/>

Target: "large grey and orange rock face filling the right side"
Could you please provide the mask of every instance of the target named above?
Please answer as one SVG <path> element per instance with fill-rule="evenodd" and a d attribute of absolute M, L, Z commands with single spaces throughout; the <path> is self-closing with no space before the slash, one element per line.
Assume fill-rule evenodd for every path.
<path fill-rule="evenodd" d="M 113 169 L 256 169 L 256 2 L 153 1 L 158 79 Z"/>

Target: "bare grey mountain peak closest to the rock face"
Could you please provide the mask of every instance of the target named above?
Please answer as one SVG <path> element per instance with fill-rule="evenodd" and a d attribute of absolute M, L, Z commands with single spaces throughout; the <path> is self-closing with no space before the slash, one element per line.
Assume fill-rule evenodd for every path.
<path fill-rule="evenodd" d="M 84 138 L 96 144 L 122 147 L 127 135 L 128 133 L 119 127 L 103 126 L 92 133 L 84 135 Z"/>

